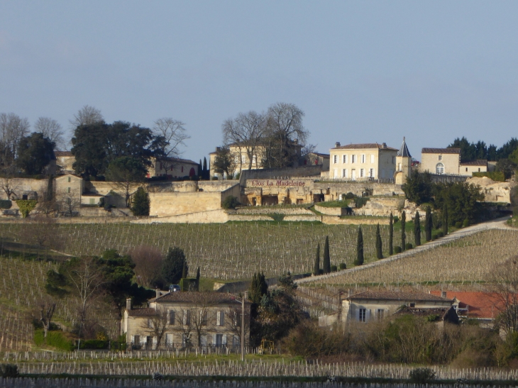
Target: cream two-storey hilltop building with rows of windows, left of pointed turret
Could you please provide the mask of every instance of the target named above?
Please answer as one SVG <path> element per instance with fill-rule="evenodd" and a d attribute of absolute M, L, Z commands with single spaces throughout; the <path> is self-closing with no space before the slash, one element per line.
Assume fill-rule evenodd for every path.
<path fill-rule="evenodd" d="M 329 150 L 331 179 L 392 179 L 397 150 L 386 143 L 340 145 Z"/>

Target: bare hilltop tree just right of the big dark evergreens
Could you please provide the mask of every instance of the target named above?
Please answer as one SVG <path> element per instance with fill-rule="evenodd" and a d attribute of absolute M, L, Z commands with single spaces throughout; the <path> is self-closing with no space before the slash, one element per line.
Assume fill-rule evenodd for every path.
<path fill-rule="evenodd" d="M 181 148 L 185 145 L 185 140 L 189 139 L 187 131 L 184 128 L 185 123 L 180 120 L 175 120 L 171 117 L 159 118 L 155 121 L 153 127 L 153 133 L 157 136 L 161 136 L 164 141 L 164 148 L 162 149 L 163 157 L 159 157 L 162 168 L 167 171 L 175 168 L 175 158 L 182 155 Z"/>

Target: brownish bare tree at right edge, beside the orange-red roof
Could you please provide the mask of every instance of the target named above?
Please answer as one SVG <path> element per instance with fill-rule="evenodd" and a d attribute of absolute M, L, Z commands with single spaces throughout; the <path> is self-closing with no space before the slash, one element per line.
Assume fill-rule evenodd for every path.
<path fill-rule="evenodd" d="M 518 331 L 518 256 L 495 267 L 491 281 L 495 287 L 493 304 L 499 312 L 497 323 L 505 333 Z"/>

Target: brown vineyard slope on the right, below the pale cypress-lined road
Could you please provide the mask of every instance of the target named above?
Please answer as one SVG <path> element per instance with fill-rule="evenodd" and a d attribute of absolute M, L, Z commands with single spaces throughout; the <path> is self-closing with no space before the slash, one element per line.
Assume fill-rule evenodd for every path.
<path fill-rule="evenodd" d="M 385 265 L 343 272 L 316 282 L 336 286 L 484 282 L 495 265 L 517 255 L 517 246 L 516 231 L 482 231 Z"/>

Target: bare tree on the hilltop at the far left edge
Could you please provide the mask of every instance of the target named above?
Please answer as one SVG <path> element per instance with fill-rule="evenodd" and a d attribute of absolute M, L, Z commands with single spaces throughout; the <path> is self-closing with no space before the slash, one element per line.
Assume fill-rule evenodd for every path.
<path fill-rule="evenodd" d="M 0 113 L 0 164 L 13 165 L 20 140 L 28 135 L 31 125 L 27 118 L 15 113 Z"/>

